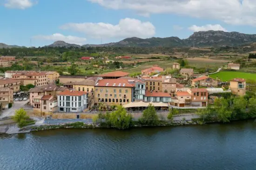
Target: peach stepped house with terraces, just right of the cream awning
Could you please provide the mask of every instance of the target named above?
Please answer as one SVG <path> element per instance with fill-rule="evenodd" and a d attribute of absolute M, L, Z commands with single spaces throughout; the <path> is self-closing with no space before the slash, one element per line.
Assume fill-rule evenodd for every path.
<path fill-rule="evenodd" d="M 191 105 L 191 95 L 188 92 L 176 92 L 176 96 L 171 99 L 171 105 L 189 107 Z"/>

